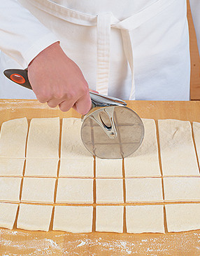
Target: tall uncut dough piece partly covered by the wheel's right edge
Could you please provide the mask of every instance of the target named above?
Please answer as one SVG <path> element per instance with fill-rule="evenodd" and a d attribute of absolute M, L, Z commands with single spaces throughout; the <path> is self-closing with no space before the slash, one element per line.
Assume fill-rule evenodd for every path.
<path fill-rule="evenodd" d="M 159 168 L 157 134 L 153 119 L 142 119 L 145 135 L 141 146 L 124 159 L 126 177 L 161 176 Z"/>

